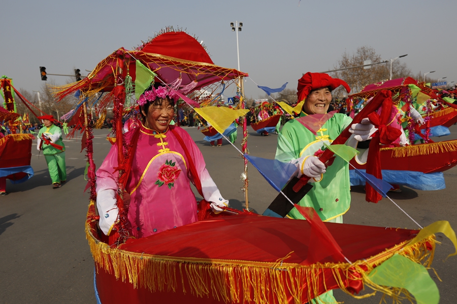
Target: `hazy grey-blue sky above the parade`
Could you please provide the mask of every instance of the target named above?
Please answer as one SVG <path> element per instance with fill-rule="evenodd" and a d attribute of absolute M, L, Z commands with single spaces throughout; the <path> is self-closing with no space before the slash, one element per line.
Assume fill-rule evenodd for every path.
<path fill-rule="evenodd" d="M 344 51 L 373 47 L 383 59 L 406 63 L 414 74 L 457 82 L 457 1 L 302 0 L 15 0 L 0 9 L 0 75 L 17 89 L 40 90 L 39 67 L 83 75 L 120 47 L 132 49 L 167 26 L 203 40 L 216 65 L 240 69 L 252 80 L 246 97 L 264 92 L 253 83 L 296 89 L 307 71 L 333 69 Z M 69 77 L 48 76 L 65 84 Z M 74 78 L 73 78 L 74 80 Z"/>

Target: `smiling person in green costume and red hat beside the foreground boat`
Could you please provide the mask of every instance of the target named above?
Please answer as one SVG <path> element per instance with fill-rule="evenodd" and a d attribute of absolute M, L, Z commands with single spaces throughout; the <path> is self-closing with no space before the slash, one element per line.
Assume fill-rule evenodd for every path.
<path fill-rule="evenodd" d="M 325 114 L 332 101 L 332 91 L 343 85 L 349 93 L 349 86 L 340 79 L 333 79 L 324 73 L 306 73 L 299 80 L 298 101 L 302 104 L 300 117 Z M 278 136 L 275 159 L 292 163 L 297 166 L 298 177 L 311 177 L 312 189 L 299 202 L 300 206 L 313 207 L 322 221 L 342 223 L 342 215 L 349 210 L 350 180 L 349 165 L 340 157 L 336 157 L 332 165 L 325 168 L 318 156 L 325 144 L 330 145 L 338 135 L 351 123 L 348 116 L 335 113 L 314 135 L 296 119 L 284 124 Z M 366 140 L 374 132 L 369 122 L 351 126 L 356 140 Z M 325 174 L 324 174 L 325 173 Z M 287 217 L 305 219 L 300 212 L 293 208 Z M 314 298 L 311 303 L 336 302 L 333 291 Z"/>

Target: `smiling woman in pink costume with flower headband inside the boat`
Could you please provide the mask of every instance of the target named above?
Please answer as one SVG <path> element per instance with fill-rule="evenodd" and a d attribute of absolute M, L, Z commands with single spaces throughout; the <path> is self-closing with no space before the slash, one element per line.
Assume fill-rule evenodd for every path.
<path fill-rule="evenodd" d="M 129 234 L 135 238 L 197 221 L 197 201 L 190 188 L 190 183 L 195 184 L 195 176 L 190 164 L 201 181 L 204 199 L 211 203 L 213 211 L 222 211 L 220 207 L 228 203 L 220 195 L 205 168 L 202 153 L 189 134 L 180 127 L 170 126 L 174 99 L 166 87 L 146 91 L 138 102 L 142 123 L 125 133 L 126 142 L 136 145 L 125 187 L 127 197 L 130 196 Z M 113 145 L 96 173 L 100 228 L 108 236 L 118 220 L 118 172 L 113 173 L 118 167 L 117 155 L 117 145 Z"/>

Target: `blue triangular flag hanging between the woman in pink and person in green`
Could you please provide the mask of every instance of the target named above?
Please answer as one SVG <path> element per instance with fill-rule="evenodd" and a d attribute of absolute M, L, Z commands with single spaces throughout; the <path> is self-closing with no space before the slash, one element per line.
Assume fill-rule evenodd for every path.
<path fill-rule="evenodd" d="M 263 177 L 280 192 L 290 177 L 295 173 L 297 167 L 290 163 L 283 163 L 278 160 L 269 160 L 245 154 L 244 157 L 262 174 Z"/>

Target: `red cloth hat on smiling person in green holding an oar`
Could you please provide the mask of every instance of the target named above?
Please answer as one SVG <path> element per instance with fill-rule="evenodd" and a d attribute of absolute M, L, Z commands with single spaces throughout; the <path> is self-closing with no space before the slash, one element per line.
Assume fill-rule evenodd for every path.
<path fill-rule="evenodd" d="M 351 88 L 349 85 L 338 78 L 332 78 L 328 74 L 325 73 L 311 73 L 307 72 L 303 75 L 301 79 L 299 79 L 299 84 L 297 87 L 297 97 L 298 101 L 302 101 L 303 99 L 308 96 L 309 92 L 314 89 L 320 89 L 329 87 L 331 90 L 335 90 L 339 86 L 344 86 L 346 91 L 349 93 Z"/>

